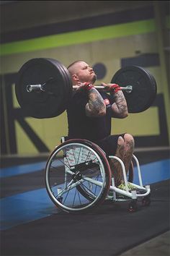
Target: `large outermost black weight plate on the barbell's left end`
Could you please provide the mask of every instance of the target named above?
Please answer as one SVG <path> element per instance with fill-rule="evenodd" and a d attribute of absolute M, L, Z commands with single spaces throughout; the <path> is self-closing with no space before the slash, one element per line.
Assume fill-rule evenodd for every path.
<path fill-rule="evenodd" d="M 18 72 L 15 91 L 19 105 L 28 116 L 38 119 L 58 116 L 64 111 L 66 80 L 62 64 L 55 59 L 31 59 Z M 42 93 L 27 92 L 27 85 L 43 84 L 53 77 Z"/>

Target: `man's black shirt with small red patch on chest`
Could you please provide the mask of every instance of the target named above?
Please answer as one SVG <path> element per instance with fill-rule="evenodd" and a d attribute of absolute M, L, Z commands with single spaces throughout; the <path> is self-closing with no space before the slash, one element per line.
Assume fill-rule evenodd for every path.
<path fill-rule="evenodd" d="M 68 138 L 79 138 L 91 141 L 102 140 L 110 135 L 113 103 L 109 94 L 100 92 L 107 106 L 106 116 L 86 116 L 85 106 L 88 96 L 85 92 L 73 92 L 68 103 Z"/>

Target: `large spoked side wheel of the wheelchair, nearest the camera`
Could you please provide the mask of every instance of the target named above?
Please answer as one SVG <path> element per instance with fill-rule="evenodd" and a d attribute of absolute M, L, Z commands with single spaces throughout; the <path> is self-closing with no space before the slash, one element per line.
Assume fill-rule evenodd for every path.
<path fill-rule="evenodd" d="M 105 200 L 111 171 L 104 152 L 88 140 L 68 140 L 48 158 L 45 186 L 54 204 L 69 213 L 89 210 Z"/>

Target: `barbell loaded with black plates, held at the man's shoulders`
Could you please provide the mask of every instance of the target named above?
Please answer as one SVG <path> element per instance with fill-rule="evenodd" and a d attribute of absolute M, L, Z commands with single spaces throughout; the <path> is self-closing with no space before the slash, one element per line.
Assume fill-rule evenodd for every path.
<path fill-rule="evenodd" d="M 120 85 L 129 113 L 148 109 L 156 98 L 156 80 L 142 67 L 119 69 L 111 83 Z M 96 86 L 97 90 L 104 87 Z M 37 119 L 59 116 L 73 93 L 68 69 L 55 59 L 30 59 L 19 69 L 15 83 L 17 101 L 27 116 Z"/>

